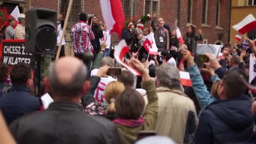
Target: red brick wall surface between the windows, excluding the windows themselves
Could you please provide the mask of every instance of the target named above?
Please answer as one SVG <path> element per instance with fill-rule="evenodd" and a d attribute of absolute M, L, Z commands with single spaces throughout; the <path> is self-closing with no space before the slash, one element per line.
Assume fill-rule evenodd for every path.
<path fill-rule="evenodd" d="M 175 28 L 175 21 L 179 19 L 179 27 L 182 35 L 187 31 L 187 1 L 188 0 L 180 0 L 179 5 L 179 0 L 160 0 L 160 17 L 164 19 L 165 24 L 168 24 L 171 29 Z M 219 40 L 219 34 L 223 35 L 223 38 L 221 39 L 222 42 L 228 43 L 229 40 L 230 0 L 220 0 L 220 2 L 220 27 L 223 28 L 223 30 L 215 28 L 217 0 L 208 0 L 207 25 L 210 26 L 209 28 L 201 26 L 203 0 L 193 0 L 192 24 L 195 25 L 197 29 L 202 30 L 203 38 L 207 39 L 209 44 L 214 44 Z M 57 10 L 57 3 L 58 0 L 31 0 L 31 6 L 34 8 L 49 8 Z M 135 5 L 135 15 L 142 16 L 144 13 L 144 0 L 136 0 Z M 180 8 L 179 17 L 178 8 Z M 94 13 L 98 17 L 99 21 L 103 21 L 99 0 L 84 0 L 84 11 L 85 13 Z M 117 40 L 119 40 L 118 36 L 116 34 L 113 35 L 112 41 Z M 198 43 L 203 43 L 203 41 Z"/>

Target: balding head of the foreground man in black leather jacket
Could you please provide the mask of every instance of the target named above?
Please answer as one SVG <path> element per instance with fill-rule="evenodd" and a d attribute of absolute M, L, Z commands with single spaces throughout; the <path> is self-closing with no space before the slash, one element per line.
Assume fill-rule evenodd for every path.
<path fill-rule="evenodd" d="M 53 95 L 78 96 L 84 93 L 87 68 L 75 57 L 63 57 L 51 64 L 48 77 L 48 86 Z"/>

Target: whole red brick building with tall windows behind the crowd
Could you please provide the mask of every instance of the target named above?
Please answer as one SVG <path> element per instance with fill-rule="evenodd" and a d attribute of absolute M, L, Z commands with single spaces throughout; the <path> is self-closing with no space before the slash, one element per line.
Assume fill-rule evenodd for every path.
<path fill-rule="evenodd" d="M 0 0 L 11 13 L 16 5 L 24 12 L 29 8 L 49 8 L 65 13 L 69 0 Z M 178 20 L 181 33 L 185 34 L 187 26 L 193 24 L 202 29 L 204 40 L 199 43 L 228 43 L 230 0 L 122 0 L 125 16 L 142 16 L 151 14 L 153 19 L 162 17 L 171 29 Z M 94 13 L 101 21 L 99 0 L 73 0 L 69 27 L 78 21 L 81 11 Z M 116 36 L 115 36 L 116 37 Z"/>

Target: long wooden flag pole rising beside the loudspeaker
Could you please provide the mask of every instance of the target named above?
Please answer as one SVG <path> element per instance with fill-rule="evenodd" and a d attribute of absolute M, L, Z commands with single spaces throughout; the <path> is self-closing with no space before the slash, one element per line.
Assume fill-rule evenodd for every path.
<path fill-rule="evenodd" d="M 64 27 L 63 27 L 63 32 L 62 32 L 62 35 L 61 35 L 61 41 L 59 42 L 59 47 L 58 47 L 58 51 L 57 51 L 57 55 L 56 55 L 56 60 L 59 59 L 59 54 L 61 52 L 61 45 L 62 45 L 62 40 L 64 38 L 64 34 L 66 32 L 66 29 L 67 29 L 67 21 L 69 19 L 69 13 L 71 11 L 71 8 L 72 8 L 72 3 L 73 3 L 73 0 L 69 0 L 69 6 L 67 8 L 67 15 L 65 17 L 65 22 L 64 22 Z"/>

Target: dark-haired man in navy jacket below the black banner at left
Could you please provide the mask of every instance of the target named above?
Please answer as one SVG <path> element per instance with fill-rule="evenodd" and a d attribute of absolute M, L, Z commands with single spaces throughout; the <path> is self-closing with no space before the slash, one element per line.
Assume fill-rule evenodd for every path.
<path fill-rule="evenodd" d="M 5 121 L 10 125 L 17 118 L 31 112 L 39 111 L 40 99 L 32 96 L 32 72 L 27 64 L 20 63 L 11 70 L 13 86 L 5 96 L 0 97 L 0 109 Z"/>

